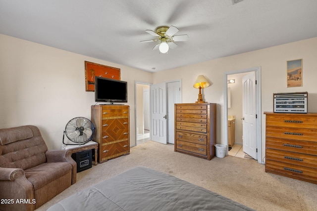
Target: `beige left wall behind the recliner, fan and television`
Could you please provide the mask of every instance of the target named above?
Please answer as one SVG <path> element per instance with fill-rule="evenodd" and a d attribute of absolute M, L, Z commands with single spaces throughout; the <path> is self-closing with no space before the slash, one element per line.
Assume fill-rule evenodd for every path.
<path fill-rule="evenodd" d="M 135 145 L 135 81 L 151 83 L 151 73 L 1 34 L 0 46 L 0 128 L 35 125 L 49 149 L 60 149 L 68 121 L 90 119 L 95 95 L 85 91 L 84 66 L 90 61 L 120 68 L 128 82 Z"/>

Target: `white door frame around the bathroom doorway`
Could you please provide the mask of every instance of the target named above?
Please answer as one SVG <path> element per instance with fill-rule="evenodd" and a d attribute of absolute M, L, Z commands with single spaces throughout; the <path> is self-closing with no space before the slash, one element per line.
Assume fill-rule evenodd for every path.
<path fill-rule="evenodd" d="M 227 145 L 226 155 L 228 155 L 228 102 L 227 102 L 227 78 L 228 75 L 239 74 L 239 73 L 248 73 L 248 72 L 255 72 L 256 73 L 256 109 L 257 109 L 257 148 L 258 148 L 258 163 L 264 164 L 263 157 L 262 157 L 262 110 L 261 110 L 261 66 L 259 67 L 252 67 L 242 70 L 234 70 L 228 71 L 223 74 L 223 116 L 224 116 L 224 140 L 225 144 Z"/>

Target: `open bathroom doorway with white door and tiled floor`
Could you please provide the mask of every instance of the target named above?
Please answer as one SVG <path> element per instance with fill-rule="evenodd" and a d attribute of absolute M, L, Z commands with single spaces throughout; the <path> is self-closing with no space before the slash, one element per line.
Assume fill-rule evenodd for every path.
<path fill-rule="evenodd" d="M 249 79 L 249 76 L 254 75 L 254 79 Z M 254 82 L 252 85 L 246 85 L 250 81 Z M 240 154 L 236 154 L 238 157 L 249 157 L 249 153 L 252 154 L 255 160 L 262 163 L 262 141 L 261 141 L 261 68 L 255 67 L 245 70 L 232 71 L 224 74 L 224 119 L 227 135 L 227 146 L 232 147 L 228 154 L 236 154 L 235 150 L 240 150 Z M 251 106 L 250 97 L 246 95 L 248 89 L 253 93 L 254 104 Z M 252 100 L 251 100 L 252 101 Z M 254 121 L 249 124 L 248 114 L 246 109 L 250 109 Z M 232 124 L 234 124 L 234 134 L 232 133 Z M 252 129 L 246 129 L 252 127 Z M 250 131 L 253 133 L 251 134 Z M 251 136 L 251 135 L 253 136 Z M 234 137 L 232 137 L 234 136 Z M 233 139 L 233 141 L 232 141 Z M 229 146 L 230 145 L 230 146 Z M 245 149 L 243 148 L 245 147 Z M 248 152 L 248 154 L 245 154 Z"/>

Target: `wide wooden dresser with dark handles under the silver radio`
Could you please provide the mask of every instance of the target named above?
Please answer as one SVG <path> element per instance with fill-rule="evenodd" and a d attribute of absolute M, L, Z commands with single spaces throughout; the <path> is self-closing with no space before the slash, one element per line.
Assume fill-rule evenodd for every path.
<path fill-rule="evenodd" d="M 265 171 L 317 184 L 317 113 L 264 114 Z"/>

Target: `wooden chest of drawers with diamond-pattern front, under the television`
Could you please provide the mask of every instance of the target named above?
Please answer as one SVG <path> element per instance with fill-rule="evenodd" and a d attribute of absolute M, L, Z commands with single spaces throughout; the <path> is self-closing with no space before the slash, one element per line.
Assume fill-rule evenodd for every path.
<path fill-rule="evenodd" d="M 129 108 L 128 105 L 91 106 L 99 163 L 130 153 Z"/>

